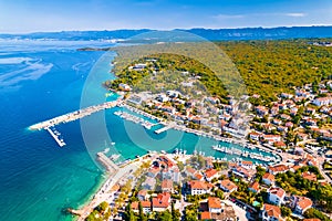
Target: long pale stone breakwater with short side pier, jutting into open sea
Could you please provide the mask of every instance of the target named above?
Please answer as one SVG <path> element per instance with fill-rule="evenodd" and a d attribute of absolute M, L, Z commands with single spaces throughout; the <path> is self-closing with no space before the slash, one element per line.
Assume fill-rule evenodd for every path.
<path fill-rule="evenodd" d="M 96 112 L 103 110 L 103 109 L 108 109 L 115 106 L 120 106 L 122 102 L 120 99 L 114 101 L 114 102 L 106 102 L 103 104 L 90 106 L 83 109 L 79 109 L 72 113 L 68 113 L 58 117 L 54 117 L 52 119 L 48 119 L 38 124 L 34 124 L 29 127 L 30 130 L 41 130 L 45 129 L 50 133 L 50 135 L 54 138 L 54 140 L 58 143 L 60 147 L 65 146 L 65 143 L 62 138 L 60 138 L 61 134 L 55 130 L 54 126 L 59 124 L 65 124 L 70 122 L 74 122 L 76 119 L 90 116 Z"/>

